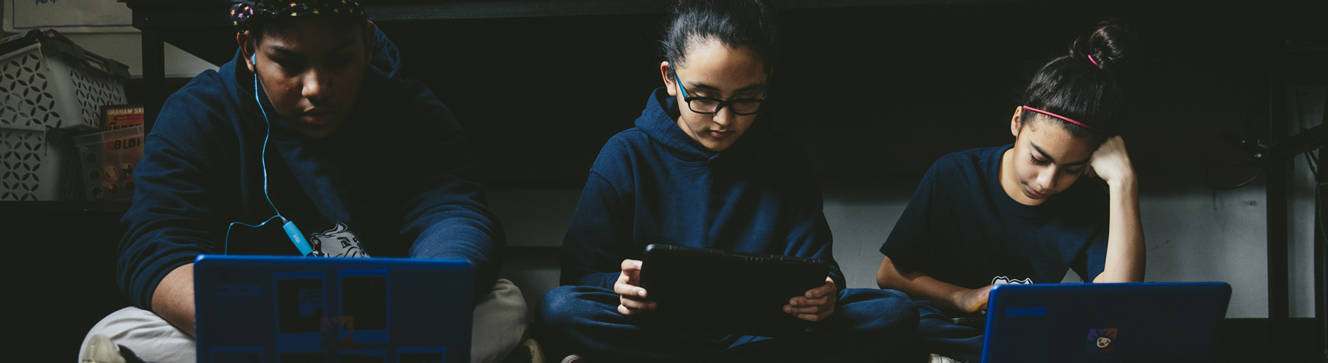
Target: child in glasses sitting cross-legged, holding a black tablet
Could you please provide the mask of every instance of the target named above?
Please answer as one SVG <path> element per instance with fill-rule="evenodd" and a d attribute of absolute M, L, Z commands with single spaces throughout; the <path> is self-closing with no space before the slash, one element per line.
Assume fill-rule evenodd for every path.
<path fill-rule="evenodd" d="M 643 326 L 655 308 L 637 286 L 647 245 L 833 258 L 811 162 L 776 130 L 765 105 L 774 102 L 765 98 L 778 55 L 774 16 L 758 0 L 679 1 L 661 43 L 664 88 L 647 97 L 636 128 L 614 136 L 596 158 L 563 239 L 563 286 L 537 311 L 550 350 L 592 362 L 869 362 L 907 344 L 918 319 L 911 301 L 845 289 L 838 265 L 823 286 L 784 307 L 814 322 L 806 335 Z"/>

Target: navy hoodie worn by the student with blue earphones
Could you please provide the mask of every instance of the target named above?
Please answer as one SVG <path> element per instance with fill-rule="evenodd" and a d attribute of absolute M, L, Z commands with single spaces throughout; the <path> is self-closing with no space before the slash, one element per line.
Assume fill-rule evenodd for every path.
<path fill-rule="evenodd" d="M 475 297 L 489 294 L 503 233 L 481 186 L 456 176 L 473 162 L 452 113 L 416 80 L 394 77 L 392 43 L 378 33 L 356 106 L 323 140 L 300 136 L 259 94 L 272 121 L 268 191 L 280 213 L 329 255 L 465 258 Z M 240 53 L 171 94 L 143 145 L 138 190 L 121 221 L 117 278 L 150 308 L 157 283 L 198 254 L 297 255 L 263 194 L 267 134 Z"/>

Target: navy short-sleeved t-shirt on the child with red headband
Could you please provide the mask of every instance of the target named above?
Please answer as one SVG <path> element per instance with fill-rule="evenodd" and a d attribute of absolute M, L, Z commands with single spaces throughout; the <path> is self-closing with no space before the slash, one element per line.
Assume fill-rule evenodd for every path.
<path fill-rule="evenodd" d="M 1080 178 L 1036 206 L 1000 186 L 1013 145 L 936 160 L 880 253 L 902 271 L 979 289 L 992 283 L 1058 283 L 1069 269 L 1093 281 L 1106 263 L 1108 194 Z"/>

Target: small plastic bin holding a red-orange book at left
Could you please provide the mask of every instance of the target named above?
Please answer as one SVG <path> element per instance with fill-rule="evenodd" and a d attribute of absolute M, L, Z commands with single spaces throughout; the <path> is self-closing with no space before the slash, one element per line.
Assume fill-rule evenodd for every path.
<path fill-rule="evenodd" d="M 143 126 L 73 137 L 88 201 L 127 201 L 134 197 L 134 168 L 143 158 Z"/>

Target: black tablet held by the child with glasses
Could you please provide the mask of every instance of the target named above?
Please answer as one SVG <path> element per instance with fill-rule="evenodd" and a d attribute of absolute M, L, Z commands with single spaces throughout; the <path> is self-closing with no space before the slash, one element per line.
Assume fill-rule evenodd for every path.
<path fill-rule="evenodd" d="M 756 336 L 802 332 L 809 322 L 784 312 L 793 297 L 825 285 L 829 258 L 645 246 L 640 286 L 656 303 L 656 324 Z"/>

